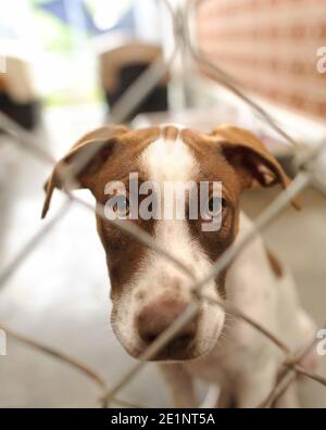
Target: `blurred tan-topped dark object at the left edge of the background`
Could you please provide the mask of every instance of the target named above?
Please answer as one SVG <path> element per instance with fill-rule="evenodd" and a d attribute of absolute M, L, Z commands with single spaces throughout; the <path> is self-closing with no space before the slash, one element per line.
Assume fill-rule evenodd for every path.
<path fill-rule="evenodd" d="M 28 64 L 17 58 L 5 58 L 5 71 L 0 74 L 0 112 L 32 130 L 39 122 L 39 111 Z"/>

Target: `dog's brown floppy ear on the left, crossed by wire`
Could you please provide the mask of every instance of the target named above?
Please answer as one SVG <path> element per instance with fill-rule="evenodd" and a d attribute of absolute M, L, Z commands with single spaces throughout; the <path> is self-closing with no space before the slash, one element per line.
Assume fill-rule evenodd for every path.
<path fill-rule="evenodd" d="M 45 218 L 50 207 L 54 188 L 63 188 L 64 180 L 70 181 L 70 189 L 89 188 L 93 174 L 109 159 L 114 140 L 127 132 L 124 126 L 101 127 L 85 135 L 54 166 L 50 178 L 45 184 L 46 200 L 41 217 Z"/>

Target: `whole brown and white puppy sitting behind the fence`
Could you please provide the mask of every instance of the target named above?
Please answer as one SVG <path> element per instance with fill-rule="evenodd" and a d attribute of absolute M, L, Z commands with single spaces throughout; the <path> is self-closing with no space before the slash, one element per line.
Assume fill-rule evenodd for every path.
<path fill-rule="evenodd" d="M 53 189 L 61 188 L 60 168 L 73 166 L 79 154 L 99 141 L 104 146 L 78 175 L 80 188 L 88 188 L 98 204 L 105 204 L 110 181 L 126 182 L 128 192 L 130 173 L 137 173 L 140 182 L 153 180 L 162 186 L 166 180 L 222 182 L 222 225 L 216 231 L 203 231 L 203 219 L 125 220 L 148 231 L 197 279 L 208 275 L 213 262 L 253 228 L 239 207 L 241 191 L 254 184 L 286 188 L 290 182 L 265 147 L 237 127 L 223 125 L 210 135 L 176 126 L 103 127 L 82 138 L 57 164 L 46 186 L 43 216 Z M 292 204 L 298 206 L 297 201 Z M 111 280 L 112 327 L 126 351 L 138 357 L 190 303 L 191 279 L 109 220 L 97 216 L 97 227 Z M 300 349 L 314 338 L 314 325 L 298 302 L 291 274 L 266 251 L 259 236 L 203 291 L 238 306 L 290 347 Z M 231 402 L 237 407 L 254 407 L 273 388 L 283 358 L 260 332 L 206 302 L 155 357 L 178 407 L 196 405 L 193 377 L 221 387 L 220 405 Z M 278 406 L 296 405 L 292 387 Z"/>

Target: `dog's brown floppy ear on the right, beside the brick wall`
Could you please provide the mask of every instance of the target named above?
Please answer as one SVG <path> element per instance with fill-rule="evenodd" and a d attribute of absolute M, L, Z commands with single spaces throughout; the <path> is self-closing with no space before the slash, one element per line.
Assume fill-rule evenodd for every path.
<path fill-rule="evenodd" d="M 228 162 L 241 173 L 244 188 L 259 182 L 263 187 L 280 184 L 286 189 L 291 182 L 274 155 L 250 131 L 221 125 L 213 129 L 212 136 L 220 142 Z M 299 199 L 292 199 L 291 204 L 300 210 Z"/>

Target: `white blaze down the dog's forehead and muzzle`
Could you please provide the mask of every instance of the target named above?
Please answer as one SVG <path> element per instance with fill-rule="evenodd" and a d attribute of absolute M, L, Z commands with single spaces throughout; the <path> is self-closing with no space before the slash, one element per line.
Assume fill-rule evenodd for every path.
<path fill-rule="evenodd" d="M 179 137 L 175 141 L 160 138 L 151 143 L 140 155 L 139 167 L 145 172 L 148 180 L 160 184 L 162 190 L 165 180 L 190 181 L 200 169 L 195 154 Z M 162 203 L 164 205 L 164 201 Z M 154 239 L 162 248 L 187 265 L 197 279 L 201 279 L 210 271 L 212 264 L 200 243 L 191 237 L 187 219 L 156 220 Z M 135 316 L 140 311 L 140 306 L 154 301 L 155 298 L 166 296 L 181 298 L 190 303 L 191 283 L 192 280 L 173 264 L 158 253 L 148 251 L 137 274 L 125 288 L 126 293 L 120 304 L 116 328 L 126 344 L 136 350 L 141 345 L 135 329 Z M 142 303 L 136 299 L 139 291 L 146 294 Z M 204 291 L 216 298 L 215 282 L 211 281 L 205 284 Z M 224 314 L 216 311 L 215 306 L 208 303 L 202 305 L 201 322 L 196 338 L 199 354 L 208 352 L 213 346 L 222 329 L 223 320 Z"/>

